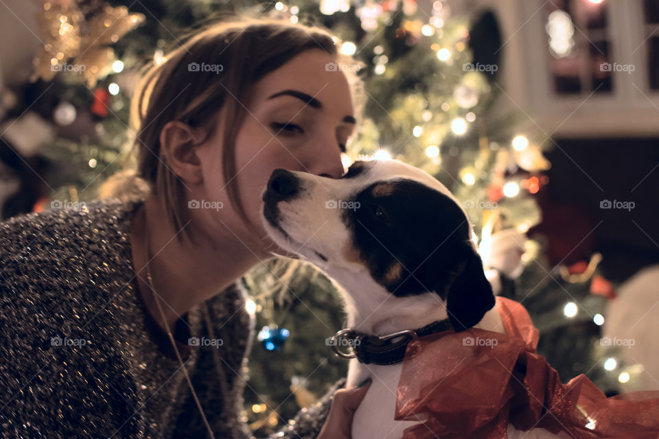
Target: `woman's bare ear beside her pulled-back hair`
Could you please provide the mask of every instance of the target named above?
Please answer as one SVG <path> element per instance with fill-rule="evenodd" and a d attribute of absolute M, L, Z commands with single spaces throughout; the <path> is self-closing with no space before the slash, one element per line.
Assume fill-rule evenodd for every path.
<path fill-rule="evenodd" d="M 203 182 L 201 161 L 196 146 L 203 141 L 201 130 L 187 123 L 170 121 L 160 132 L 160 147 L 165 165 L 185 183 Z"/>

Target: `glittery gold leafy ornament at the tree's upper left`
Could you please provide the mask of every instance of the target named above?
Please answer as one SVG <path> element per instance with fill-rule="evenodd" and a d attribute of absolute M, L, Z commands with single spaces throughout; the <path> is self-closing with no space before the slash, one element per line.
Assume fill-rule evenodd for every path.
<path fill-rule="evenodd" d="M 41 78 L 51 81 L 56 73 L 76 73 L 90 87 L 95 86 L 103 70 L 115 58 L 107 45 L 116 43 L 144 20 L 142 14 L 131 14 L 125 6 L 104 5 L 100 14 L 86 19 L 74 1 L 43 3 L 37 15 L 45 45 L 33 60 L 33 82 Z"/>

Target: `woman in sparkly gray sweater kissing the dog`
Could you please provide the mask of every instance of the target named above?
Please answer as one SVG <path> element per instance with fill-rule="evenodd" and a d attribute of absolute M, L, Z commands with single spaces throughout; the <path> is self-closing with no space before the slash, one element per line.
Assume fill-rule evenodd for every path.
<path fill-rule="evenodd" d="M 283 254 L 259 220 L 273 169 L 343 174 L 356 120 L 339 62 L 319 28 L 213 25 L 135 95 L 137 174 L 111 187 L 145 186 L 143 201 L 1 224 L 2 437 L 246 436 L 236 280 Z M 334 393 L 325 422 L 330 392 L 277 437 L 349 437 L 367 388 Z"/>

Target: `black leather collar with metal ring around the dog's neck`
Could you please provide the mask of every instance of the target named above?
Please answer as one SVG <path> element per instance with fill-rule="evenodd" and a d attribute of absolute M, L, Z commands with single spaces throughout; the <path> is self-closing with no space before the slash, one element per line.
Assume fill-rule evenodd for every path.
<path fill-rule="evenodd" d="M 396 364 L 403 361 L 407 345 L 417 337 L 450 331 L 453 327 L 448 318 L 437 320 L 419 329 L 406 329 L 387 335 L 368 335 L 354 329 L 341 329 L 332 337 L 330 345 L 337 357 L 356 358 L 364 364 Z M 391 340 L 402 337 L 396 342 Z M 340 351 L 340 346 L 350 346 L 353 353 Z"/>

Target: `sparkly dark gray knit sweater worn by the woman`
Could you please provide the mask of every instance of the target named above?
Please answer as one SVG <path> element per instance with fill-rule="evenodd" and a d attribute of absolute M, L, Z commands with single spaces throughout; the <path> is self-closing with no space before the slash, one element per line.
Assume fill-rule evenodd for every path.
<path fill-rule="evenodd" d="M 95 201 L 0 223 L 0 438 L 207 438 L 180 364 L 141 302 L 130 222 L 141 202 Z M 240 281 L 176 324 L 216 438 L 240 421 L 253 320 Z M 188 337 L 222 339 L 189 346 Z M 277 438 L 315 438 L 329 397 Z"/>

